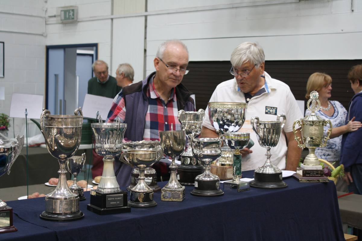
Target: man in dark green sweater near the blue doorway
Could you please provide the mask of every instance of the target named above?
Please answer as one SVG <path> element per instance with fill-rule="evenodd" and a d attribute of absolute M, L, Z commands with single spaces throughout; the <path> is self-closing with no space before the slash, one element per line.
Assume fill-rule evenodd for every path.
<path fill-rule="evenodd" d="M 114 98 L 122 87 L 117 86 L 117 80 L 108 74 L 108 64 L 103 60 L 92 64 L 93 78 L 88 81 L 88 94 Z"/>

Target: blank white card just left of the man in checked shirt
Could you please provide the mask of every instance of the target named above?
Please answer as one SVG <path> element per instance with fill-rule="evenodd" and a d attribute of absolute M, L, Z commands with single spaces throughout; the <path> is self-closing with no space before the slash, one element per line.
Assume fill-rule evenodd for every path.
<path fill-rule="evenodd" d="M 97 96 L 97 95 L 90 95 L 85 94 L 84 104 L 83 104 L 83 117 L 96 119 L 97 111 L 99 115 L 102 116 L 103 120 L 107 119 L 108 112 L 111 109 L 113 99 Z"/>

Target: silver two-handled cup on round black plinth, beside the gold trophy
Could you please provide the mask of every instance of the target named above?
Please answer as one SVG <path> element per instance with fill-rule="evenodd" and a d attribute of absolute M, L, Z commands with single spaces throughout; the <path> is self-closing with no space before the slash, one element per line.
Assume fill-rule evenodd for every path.
<path fill-rule="evenodd" d="M 283 118 L 279 121 L 280 117 Z M 284 114 L 277 116 L 277 121 L 260 121 L 259 117 L 252 117 L 250 122 L 259 145 L 266 148 L 266 161 L 264 165 L 258 167 L 254 172 L 254 180 L 250 186 L 254 188 L 286 188 L 287 184 L 283 182 L 282 171 L 270 161 L 270 149 L 278 145 L 280 134 L 285 125 L 286 117 Z"/>

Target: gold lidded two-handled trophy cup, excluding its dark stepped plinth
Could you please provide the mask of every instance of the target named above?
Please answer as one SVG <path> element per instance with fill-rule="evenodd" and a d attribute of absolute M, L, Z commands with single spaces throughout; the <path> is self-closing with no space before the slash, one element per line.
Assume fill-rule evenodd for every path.
<path fill-rule="evenodd" d="M 315 112 L 321 107 L 318 99 L 318 92 L 312 91 L 310 96 L 311 98 L 307 102 L 307 108 L 312 113 L 309 116 L 305 116 L 303 119 L 294 121 L 293 134 L 295 140 L 298 142 L 298 147 L 307 147 L 309 150 L 308 155 L 300 166 L 303 169 L 321 169 L 318 157 L 315 155 L 315 149 L 318 147 L 325 147 L 327 145 L 329 136 L 332 133 L 332 122 L 330 120 L 324 120 L 315 114 Z M 298 132 L 298 130 L 295 129 L 296 124 L 302 127 L 302 140 L 300 137 L 296 136 L 296 133 Z M 324 137 L 324 126 L 327 125 L 329 125 L 329 128 L 327 129 L 327 136 Z"/>

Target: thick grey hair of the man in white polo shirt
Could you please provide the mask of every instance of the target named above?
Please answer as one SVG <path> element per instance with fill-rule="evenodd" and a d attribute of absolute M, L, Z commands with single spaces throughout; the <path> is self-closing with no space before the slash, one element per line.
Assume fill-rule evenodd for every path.
<path fill-rule="evenodd" d="M 258 43 L 244 42 L 231 53 L 230 62 L 234 67 L 240 67 L 245 62 L 255 64 L 256 68 L 264 63 L 265 55 L 263 48 Z"/>

